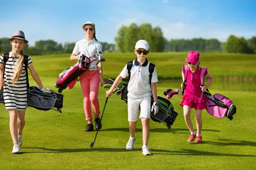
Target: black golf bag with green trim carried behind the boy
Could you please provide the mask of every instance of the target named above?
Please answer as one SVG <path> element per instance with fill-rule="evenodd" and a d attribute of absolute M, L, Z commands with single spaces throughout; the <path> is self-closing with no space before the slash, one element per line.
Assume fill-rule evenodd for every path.
<path fill-rule="evenodd" d="M 119 87 L 119 91 L 117 92 L 117 96 L 121 94 L 121 99 L 124 100 L 126 103 L 128 102 L 128 84 L 122 85 Z M 175 121 L 178 113 L 174 111 L 172 103 L 161 96 L 157 96 L 158 101 L 158 113 L 154 115 L 154 111 L 150 113 L 150 117 L 154 122 L 163 123 L 168 127 L 168 129 L 171 128 L 171 125 L 173 125 L 173 122 Z M 154 98 L 151 96 L 151 107 L 154 103 Z"/>

